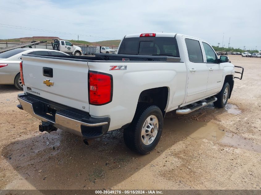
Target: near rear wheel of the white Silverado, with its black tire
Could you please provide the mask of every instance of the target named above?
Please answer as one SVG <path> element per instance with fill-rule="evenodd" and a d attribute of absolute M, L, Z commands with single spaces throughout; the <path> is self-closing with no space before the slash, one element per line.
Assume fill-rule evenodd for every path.
<path fill-rule="evenodd" d="M 146 132 L 147 130 L 142 131 L 142 127 L 145 125 L 145 121 L 150 117 L 156 117 L 158 122 L 158 125 L 153 126 L 151 128 L 151 131 Z M 150 121 L 153 118 L 150 118 Z M 147 125 L 146 127 L 148 127 Z M 149 126 L 150 127 L 150 126 Z M 142 132 L 146 132 L 147 135 L 153 134 L 154 128 L 158 127 L 158 131 L 154 136 L 150 135 L 149 136 L 144 136 L 141 135 Z M 130 126 L 123 131 L 123 138 L 124 138 L 124 143 L 126 146 L 142 155 L 149 153 L 152 151 L 156 145 L 159 142 L 159 139 L 162 134 L 162 127 L 163 127 L 163 116 L 160 108 L 158 106 L 152 105 L 152 106 L 143 106 L 138 111 L 135 113 L 135 116 L 133 118 L 132 123 Z M 143 136 L 143 137 L 142 137 Z M 151 140 L 151 143 L 144 143 L 144 140 Z"/>

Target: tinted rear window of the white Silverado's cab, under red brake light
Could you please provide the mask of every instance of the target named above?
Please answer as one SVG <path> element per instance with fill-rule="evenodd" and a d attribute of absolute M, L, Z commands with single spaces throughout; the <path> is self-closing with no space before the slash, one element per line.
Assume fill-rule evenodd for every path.
<path fill-rule="evenodd" d="M 179 49 L 174 37 L 131 37 L 122 40 L 118 54 L 179 57 Z"/>

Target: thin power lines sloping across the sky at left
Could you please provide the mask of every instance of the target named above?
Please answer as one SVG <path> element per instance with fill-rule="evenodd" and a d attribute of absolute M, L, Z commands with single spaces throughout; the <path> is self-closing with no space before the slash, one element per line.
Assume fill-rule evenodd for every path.
<path fill-rule="evenodd" d="M 62 33 L 65 35 L 81 35 L 81 36 L 86 36 L 86 37 L 98 37 L 98 38 L 109 38 L 109 39 L 120 39 L 120 38 L 115 38 L 115 37 L 103 37 L 103 36 L 95 36 L 95 35 L 82 35 L 82 34 L 75 34 L 75 33 L 68 33 L 68 32 L 60 32 L 60 31 L 54 31 L 54 30 L 44 30 L 44 29 L 38 29 L 38 28 L 29 28 L 29 27 L 24 27 L 24 26 L 15 26 L 15 25 L 8 25 L 8 24 L 2 24 L 5 25 L 2 27 L 6 28 L 15 28 L 15 29 L 22 29 L 22 30 L 32 30 L 32 31 L 40 31 L 40 32 L 48 32 L 48 33 Z M 11 27 L 14 26 L 14 27 Z"/>

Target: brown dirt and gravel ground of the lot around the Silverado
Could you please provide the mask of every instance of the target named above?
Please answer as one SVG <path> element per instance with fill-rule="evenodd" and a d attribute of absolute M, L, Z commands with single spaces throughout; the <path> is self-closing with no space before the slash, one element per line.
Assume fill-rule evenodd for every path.
<path fill-rule="evenodd" d="M 168 113 L 161 140 L 140 156 L 116 130 L 86 146 L 57 130 L 41 133 L 17 90 L 0 85 L 0 189 L 261 189 L 261 59 L 230 55 L 245 68 L 225 108 Z"/>

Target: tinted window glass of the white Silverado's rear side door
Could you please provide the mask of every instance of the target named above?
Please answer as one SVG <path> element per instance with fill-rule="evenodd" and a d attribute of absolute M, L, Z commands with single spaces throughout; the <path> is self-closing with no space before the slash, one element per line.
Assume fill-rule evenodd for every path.
<path fill-rule="evenodd" d="M 188 59 L 191 62 L 203 62 L 203 55 L 200 43 L 194 39 L 185 39 L 187 46 Z"/>

